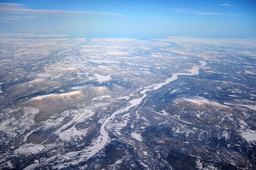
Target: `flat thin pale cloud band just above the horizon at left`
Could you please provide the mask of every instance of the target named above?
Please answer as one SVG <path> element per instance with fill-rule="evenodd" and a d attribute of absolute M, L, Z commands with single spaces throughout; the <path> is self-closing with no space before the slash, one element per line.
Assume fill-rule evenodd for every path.
<path fill-rule="evenodd" d="M 0 33 L 0 38 L 14 38 L 14 37 L 66 37 L 67 34 L 19 34 L 19 33 Z"/>

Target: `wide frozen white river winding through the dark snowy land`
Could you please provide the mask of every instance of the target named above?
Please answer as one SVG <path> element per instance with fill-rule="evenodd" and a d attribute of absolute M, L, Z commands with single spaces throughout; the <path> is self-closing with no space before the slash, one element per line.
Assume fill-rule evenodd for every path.
<path fill-rule="evenodd" d="M 140 103 L 143 101 L 143 99 L 147 96 L 147 94 L 146 94 L 147 91 L 155 91 L 155 90 L 163 87 L 163 85 L 167 85 L 168 83 L 178 79 L 178 76 L 181 76 L 181 75 L 183 75 L 183 76 L 198 75 L 199 69 L 203 68 L 205 65 L 207 65 L 207 63 L 205 61 L 199 61 L 199 62 L 201 63 L 201 65 L 192 67 L 189 70 L 190 73 L 175 73 L 172 75 L 172 77 L 166 79 L 164 82 L 153 85 L 153 86 L 151 86 L 151 88 L 145 88 L 144 90 L 140 91 L 140 94 L 143 94 L 142 97 L 129 101 L 130 105 L 128 105 L 126 108 L 123 108 L 121 110 L 118 110 L 118 111 L 112 113 L 112 115 L 109 116 L 107 119 L 105 119 L 105 121 L 102 123 L 102 125 L 100 127 L 101 135 L 98 136 L 98 139 L 96 140 L 96 144 L 94 144 L 93 146 L 88 147 L 87 149 L 84 149 L 84 150 L 76 151 L 76 152 L 70 152 L 70 153 L 66 153 L 66 154 L 58 154 L 58 155 L 52 156 L 52 157 L 46 159 L 44 162 L 37 163 L 37 164 L 31 164 L 28 167 L 26 167 L 24 170 L 35 169 L 36 167 L 47 164 L 55 159 L 60 159 L 61 162 L 64 162 L 60 168 L 67 167 L 69 165 L 78 164 L 81 161 L 90 159 L 96 153 L 98 153 L 99 150 L 101 150 L 105 146 L 105 144 L 107 144 L 109 139 L 108 139 L 108 133 L 105 130 L 105 126 L 109 122 L 111 122 L 116 115 L 118 115 L 119 113 L 127 112 L 130 110 L 130 108 L 140 105 Z M 72 161 L 69 161 L 69 160 L 72 160 Z"/>

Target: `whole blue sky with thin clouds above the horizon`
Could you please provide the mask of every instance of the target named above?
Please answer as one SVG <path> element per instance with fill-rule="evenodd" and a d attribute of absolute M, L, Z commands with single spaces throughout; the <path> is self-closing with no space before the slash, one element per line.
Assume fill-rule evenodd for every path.
<path fill-rule="evenodd" d="M 0 34 L 256 37 L 256 1 L 0 0 Z"/>

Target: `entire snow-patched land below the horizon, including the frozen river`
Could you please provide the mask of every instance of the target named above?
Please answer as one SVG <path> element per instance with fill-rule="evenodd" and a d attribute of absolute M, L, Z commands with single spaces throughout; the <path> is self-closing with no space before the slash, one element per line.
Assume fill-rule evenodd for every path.
<path fill-rule="evenodd" d="M 0 38 L 0 169 L 256 170 L 256 39 Z"/>

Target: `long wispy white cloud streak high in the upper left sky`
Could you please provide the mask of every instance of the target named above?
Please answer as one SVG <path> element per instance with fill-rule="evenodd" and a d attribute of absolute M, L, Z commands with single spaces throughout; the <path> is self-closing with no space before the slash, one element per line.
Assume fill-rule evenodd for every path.
<path fill-rule="evenodd" d="M 94 12 L 94 11 L 64 11 L 64 10 L 48 10 L 48 9 L 31 9 L 27 8 L 26 5 L 19 4 L 19 3 L 0 3 L 0 14 L 3 16 L 3 14 L 6 15 L 13 15 L 14 17 L 17 17 L 17 15 L 24 16 L 33 16 L 35 19 L 35 16 L 38 15 L 52 15 L 52 16 L 87 16 L 87 15 L 121 15 L 121 14 L 115 14 L 115 13 L 107 13 L 107 12 Z M 15 16 L 16 15 L 16 16 Z M 20 17 L 20 18 L 21 18 Z M 8 20 L 8 17 L 3 20 L 3 17 L 1 17 L 1 21 L 13 21 Z M 18 20 L 19 18 L 17 18 Z M 28 17 L 27 17 L 28 19 Z"/>

